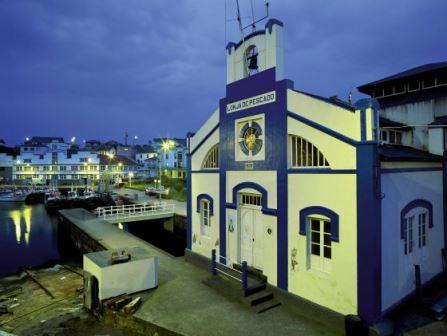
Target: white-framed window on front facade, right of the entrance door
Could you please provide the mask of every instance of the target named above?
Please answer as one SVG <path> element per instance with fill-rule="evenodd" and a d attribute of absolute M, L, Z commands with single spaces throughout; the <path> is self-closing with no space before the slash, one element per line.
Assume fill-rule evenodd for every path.
<path fill-rule="evenodd" d="M 308 217 L 308 268 L 322 272 L 331 271 L 332 238 L 331 222 L 319 217 Z"/>

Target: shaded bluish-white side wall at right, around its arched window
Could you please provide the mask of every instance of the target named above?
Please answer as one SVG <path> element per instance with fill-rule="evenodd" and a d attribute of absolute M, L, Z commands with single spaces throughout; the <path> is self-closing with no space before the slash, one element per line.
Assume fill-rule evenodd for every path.
<path fill-rule="evenodd" d="M 382 311 L 415 289 L 414 263 L 421 264 L 422 281 L 442 270 L 444 247 L 442 172 L 382 174 Z M 400 238 L 400 212 L 411 201 L 424 199 L 433 205 L 433 228 L 427 228 L 425 253 L 416 245 L 412 256 L 404 255 Z M 414 237 L 418 237 L 417 231 Z M 417 239 L 415 240 L 417 243 Z"/>

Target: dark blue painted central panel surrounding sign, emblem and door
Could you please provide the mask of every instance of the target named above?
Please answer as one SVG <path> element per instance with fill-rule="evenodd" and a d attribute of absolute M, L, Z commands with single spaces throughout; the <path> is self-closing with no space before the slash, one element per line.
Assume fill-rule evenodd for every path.
<path fill-rule="evenodd" d="M 235 120 L 264 114 L 265 160 L 253 162 L 252 170 L 277 171 L 278 274 L 277 285 L 287 289 L 287 88 L 291 81 L 276 82 L 275 69 L 227 85 L 226 97 L 220 100 L 220 207 L 225 209 L 226 172 L 245 170 L 245 162 L 235 161 Z M 276 91 L 274 103 L 233 113 L 226 112 L 227 104 L 269 91 Z M 247 181 L 250 182 L 250 181 Z M 227 200 L 231 202 L 230 200 Z M 220 255 L 226 256 L 226 213 L 220 214 Z M 222 260 L 224 260 L 222 258 Z"/>

